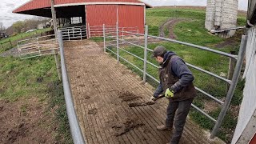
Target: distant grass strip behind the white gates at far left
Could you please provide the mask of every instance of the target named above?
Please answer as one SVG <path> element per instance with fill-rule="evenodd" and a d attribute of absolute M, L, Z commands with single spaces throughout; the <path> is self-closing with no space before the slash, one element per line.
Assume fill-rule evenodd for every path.
<path fill-rule="evenodd" d="M 3 38 L 0 40 L 0 54 L 6 50 L 10 50 L 14 46 L 17 45 L 17 42 L 22 39 L 26 38 L 34 38 L 34 37 L 40 37 L 41 34 L 52 30 L 51 28 L 46 28 L 42 30 L 34 30 L 28 33 L 21 33 L 14 36 L 11 36 L 9 38 Z"/>

